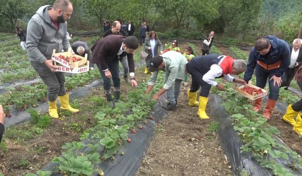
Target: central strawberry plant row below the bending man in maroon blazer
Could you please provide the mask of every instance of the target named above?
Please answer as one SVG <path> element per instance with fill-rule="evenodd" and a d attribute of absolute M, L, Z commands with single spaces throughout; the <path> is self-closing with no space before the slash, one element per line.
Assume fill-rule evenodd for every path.
<path fill-rule="evenodd" d="M 159 78 L 152 93 L 159 91 L 163 84 L 163 74 L 160 74 Z M 147 123 L 144 118 L 153 119 L 149 113 L 156 101 L 151 98 L 151 95 L 144 94 L 146 87 L 147 82 L 140 83 L 135 91 L 129 92 L 126 102 L 121 101 L 116 103 L 114 108 L 106 107 L 99 111 L 95 115 L 96 125 L 86 130 L 80 137 L 81 140 L 85 139 L 85 142 L 73 141 L 62 146 L 66 151 L 52 160 L 59 164 L 54 171 L 61 171 L 67 175 L 89 176 L 94 172 L 104 175 L 104 172 L 95 165 L 105 159 L 114 159 L 121 146 L 131 142 L 128 138 L 130 131 L 139 133 L 136 128 L 143 130 L 139 123 L 143 121 Z M 129 114 L 129 111 L 132 113 Z M 89 148 L 86 154 L 81 152 L 84 147 Z M 119 154 L 124 155 L 124 152 L 121 151 Z M 49 176 L 51 172 L 38 171 L 37 174 Z M 26 176 L 32 175 L 35 174 L 26 174 Z"/>

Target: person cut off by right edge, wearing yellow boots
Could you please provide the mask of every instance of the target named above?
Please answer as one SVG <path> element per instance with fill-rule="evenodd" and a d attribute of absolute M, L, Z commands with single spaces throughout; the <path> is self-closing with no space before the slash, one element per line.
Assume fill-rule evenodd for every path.
<path fill-rule="evenodd" d="M 297 70 L 295 79 L 297 79 L 297 84 L 302 91 L 302 66 Z M 289 124 L 294 126 L 293 130 L 302 136 L 302 114 L 299 113 L 302 110 L 302 98 L 294 104 L 290 104 L 287 107 L 285 115 L 282 117 L 283 120 L 287 121 Z M 294 120 L 294 117 L 296 120 Z"/>

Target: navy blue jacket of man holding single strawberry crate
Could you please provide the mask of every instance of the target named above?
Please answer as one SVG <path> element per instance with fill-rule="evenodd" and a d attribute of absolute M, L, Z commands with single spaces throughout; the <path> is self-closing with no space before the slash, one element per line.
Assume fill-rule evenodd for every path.
<path fill-rule="evenodd" d="M 251 53 L 249 54 L 249 62 L 247 63 L 243 78 L 246 82 L 248 82 L 252 78 L 257 61 L 270 65 L 281 60 L 281 65 L 277 69 L 277 73 L 275 74 L 275 76 L 277 77 L 281 77 L 288 66 L 291 64 L 291 53 L 289 50 L 289 44 L 287 42 L 272 35 L 265 36 L 263 38 L 270 41 L 271 49 L 265 57 L 262 57 L 260 56 L 260 53 L 255 50 L 255 47 L 252 48 Z"/>

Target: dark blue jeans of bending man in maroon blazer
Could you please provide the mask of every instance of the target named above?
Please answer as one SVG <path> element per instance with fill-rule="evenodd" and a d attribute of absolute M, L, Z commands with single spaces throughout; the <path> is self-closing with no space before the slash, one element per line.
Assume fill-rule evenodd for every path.
<path fill-rule="evenodd" d="M 115 59 L 111 62 L 107 62 L 107 64 L 108 64 L 108 70 L 111 72 L 112 75 L 113 87 L 120 88 L 120 68 L 119 68 L 118 60 Z M 107 78 L 105 76 L 105 72 L 101 68 L 101 64 L 97 64 L 97 66 L 104 81 L 104 90 L 105 91 L 111 90 L 111 78 Z"/>

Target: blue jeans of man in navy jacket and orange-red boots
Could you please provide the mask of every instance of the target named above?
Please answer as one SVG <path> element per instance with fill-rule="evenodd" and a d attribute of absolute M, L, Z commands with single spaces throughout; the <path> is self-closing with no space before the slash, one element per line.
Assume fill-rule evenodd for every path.
<path fill-rule="evenodd" d="M 271 79 L 276 74 L 276 69 L 266 70 L 262 66 L 256 65 L 255 69 L 256 74 L 256 86 L 264 88 L 266 82 Z M 284 80 L 284 74 L 281 76 L 281 79 Z M 268 81 L 269 86 L 269 95 L 268 98 L 277 101 L 279 98 L 279 89 L 277 83 L 274 86 L 274 80 Z"/>

